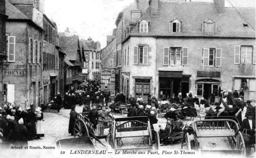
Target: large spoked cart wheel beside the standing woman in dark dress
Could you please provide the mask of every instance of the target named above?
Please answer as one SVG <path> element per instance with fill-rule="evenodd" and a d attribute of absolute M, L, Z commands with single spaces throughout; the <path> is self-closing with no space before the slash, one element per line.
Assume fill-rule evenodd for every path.
<path fill-rule="evenodd" d="M 82 136 L 89 137 L 89 132 L 85 122 L 79 118 L 75 121 L 75 124 L 74 124 L 74 138 L 82 137 Z"/>

